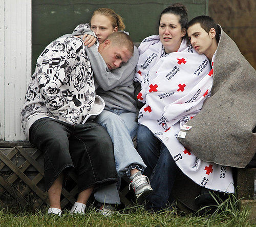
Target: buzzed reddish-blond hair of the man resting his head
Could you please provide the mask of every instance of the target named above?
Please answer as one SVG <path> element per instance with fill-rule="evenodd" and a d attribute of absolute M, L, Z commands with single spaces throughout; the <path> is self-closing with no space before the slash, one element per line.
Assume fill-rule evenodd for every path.
<path fill-rule="evenodd" d="M 132 38 L 124 32 L 113 32 L 106 39 L 109 39 L 113 44 L 125 46 L 133 55 L 134 44 Z"/>

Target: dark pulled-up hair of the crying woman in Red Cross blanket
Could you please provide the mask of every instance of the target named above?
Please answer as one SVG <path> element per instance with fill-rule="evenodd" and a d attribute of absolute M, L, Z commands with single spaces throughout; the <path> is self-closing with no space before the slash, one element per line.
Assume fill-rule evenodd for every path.
<path fill-rule="evenodd" d="M 165 8 L 159 17 L 158 25 L 160 25 L 160 20 L 163 14 L 165 13 L 172 13 L 180 17 L 179 23 L 181 25 L 181 29 L 186 28 L 187 25 L 187 8 L 181 3 L 175 3 L 173 5 L 168 6 Z"/>

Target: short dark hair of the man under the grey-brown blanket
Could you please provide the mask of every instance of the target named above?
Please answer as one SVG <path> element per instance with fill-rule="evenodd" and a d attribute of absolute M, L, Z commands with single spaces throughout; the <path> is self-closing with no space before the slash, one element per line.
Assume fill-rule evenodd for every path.
<path fill-rule="evenodd" d="M 189 27 L 195 25 L 195 24 L 200 24 L 200 26 L 207 32 L 209 33 L 211 28 L 214 28 L 216 31 L 216 41 L 217 43 L 220 40 L 220 34 L 221 34 L 221 30 L 220 27 L 216 24 L 216 22 L 214 21 L 214 19 L 212 19 L 210 16 L 197 16 L 193 19 L 191 19 L 188 23 L 187 23 L 187 27 L 186 29 L 188 29 Z"/>

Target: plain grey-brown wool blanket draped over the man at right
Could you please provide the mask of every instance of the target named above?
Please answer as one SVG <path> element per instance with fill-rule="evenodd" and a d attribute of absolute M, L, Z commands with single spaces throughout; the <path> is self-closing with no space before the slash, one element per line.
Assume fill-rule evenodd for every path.
<path fill-rule="evenodd" d="M 255 154 L 256 74 L 236 43 L 222 30 L 214 61 L 211 97 L 178 138 L 198 158 L 244 168 Z"/>

